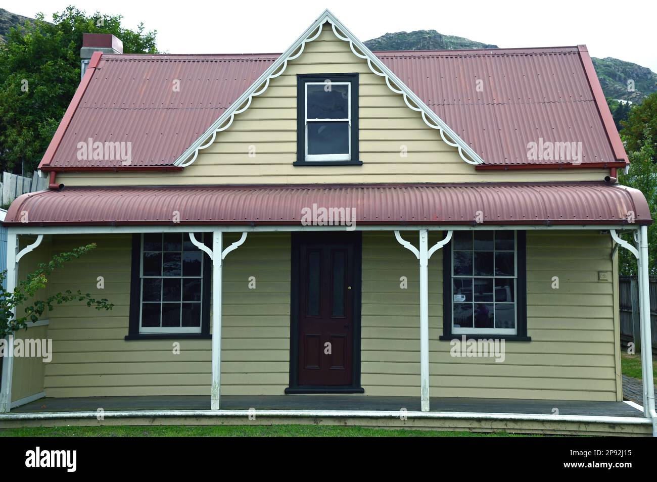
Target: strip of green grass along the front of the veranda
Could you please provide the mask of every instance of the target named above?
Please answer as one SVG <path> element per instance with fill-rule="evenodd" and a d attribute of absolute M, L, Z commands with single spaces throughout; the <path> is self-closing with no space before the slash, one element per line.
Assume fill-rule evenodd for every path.
<path fill-rule="evenodd" d="M 0 429 L 0 437 L 525 437 L 506 432 L 473 433 L 319 425 L 26 427 Z"/>

